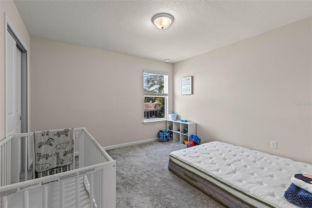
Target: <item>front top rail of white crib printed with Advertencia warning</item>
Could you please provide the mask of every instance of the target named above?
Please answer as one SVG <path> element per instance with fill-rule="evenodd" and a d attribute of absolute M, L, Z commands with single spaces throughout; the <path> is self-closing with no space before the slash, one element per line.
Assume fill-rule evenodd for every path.
<path fill-rule="evenodd" d="M 66 172 L 63 172 L 63 173 L 58 173 L 56 175 L 50 175 L 50 176 L 46 176 L 46 177 L 42 177 L 42 178 L 37 178 L 34 180 L 29 180 L 29 181 L 20 182 L 17 184 L 12 184 L 9 186 L 1 187 L 0 197 L 7 196 L 7 195 L 10 195 L 13 193 L 19 193 L 19 192 L 29 190 L 32 188 L 38 188 L 38 187 L 46 186 L 49 184 L 58 183 L 62 180 L 76 178 L 79 176 L 83 176 L 85 174 L 95 173 L 95 172 L 98 172 L 101 170 L 103 170 L 103 166 L 92 167 L 89 169 L 83 168 L 83 170 L 81 170 L 79 172 L 73 173 L 71 171 L 72 173 L 68 173 L 68 174 L 66 174 Z M 45 179 L 45 178 L 47 178 L 47 179 Z"/>

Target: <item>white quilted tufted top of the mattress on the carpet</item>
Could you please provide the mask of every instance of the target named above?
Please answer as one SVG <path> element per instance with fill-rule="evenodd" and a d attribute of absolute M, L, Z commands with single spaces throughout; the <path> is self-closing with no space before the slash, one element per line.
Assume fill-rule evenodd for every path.
<path fill-rule="evenodd" d="M 277 208 L 291 208 L 283 194 L 296 173 L 312 174 L 312 165 L 227 143 L 211 142 L 170 153 L 175 163 L 213 177 L 234 193 L 244 192 Z M 193 171 L 194 172 L 194 171 Z M 241 197 L 241 196 L 239 196 Z"/>

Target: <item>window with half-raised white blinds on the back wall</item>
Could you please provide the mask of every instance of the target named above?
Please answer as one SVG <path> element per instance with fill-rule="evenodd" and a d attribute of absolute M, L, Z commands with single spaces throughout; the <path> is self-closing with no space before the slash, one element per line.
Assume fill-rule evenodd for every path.
<path fill-rule="evenodd" d="M 168 74 L 144 71 L 144 121 L 167 119 Z"/>

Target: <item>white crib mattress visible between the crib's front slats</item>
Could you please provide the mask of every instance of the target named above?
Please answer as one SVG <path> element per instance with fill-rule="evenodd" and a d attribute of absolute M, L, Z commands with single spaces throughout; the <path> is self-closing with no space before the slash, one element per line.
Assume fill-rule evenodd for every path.
<path fill-rule="evenodd" d="M 66 208 L 75 208 L 76 179 L 68 179 L 65 182 L 64 205 Z M 59 208 L 59 183 L 50 184 L 48 188 L 48 208 Z M 89 207 L 89 196 L 84 186 L 83 176 L 79 177 L 79 204 L 80 208 Z M 8 196 L 9 208 L 22 208 L 23 193 L 15 193 Z M 29 208 L 42 208 L 42 187 L 29 190 Z"/>

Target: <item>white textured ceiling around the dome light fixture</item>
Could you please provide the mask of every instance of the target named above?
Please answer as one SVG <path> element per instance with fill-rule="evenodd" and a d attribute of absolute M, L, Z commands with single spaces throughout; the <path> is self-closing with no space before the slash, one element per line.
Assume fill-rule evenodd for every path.
<path fill-rule="evenodd" d="M 15 0 L 31 36 L 179 62 L 312 16 L 312 1 Z M 157 13 L 173 24 L 158 29 Z"/>

